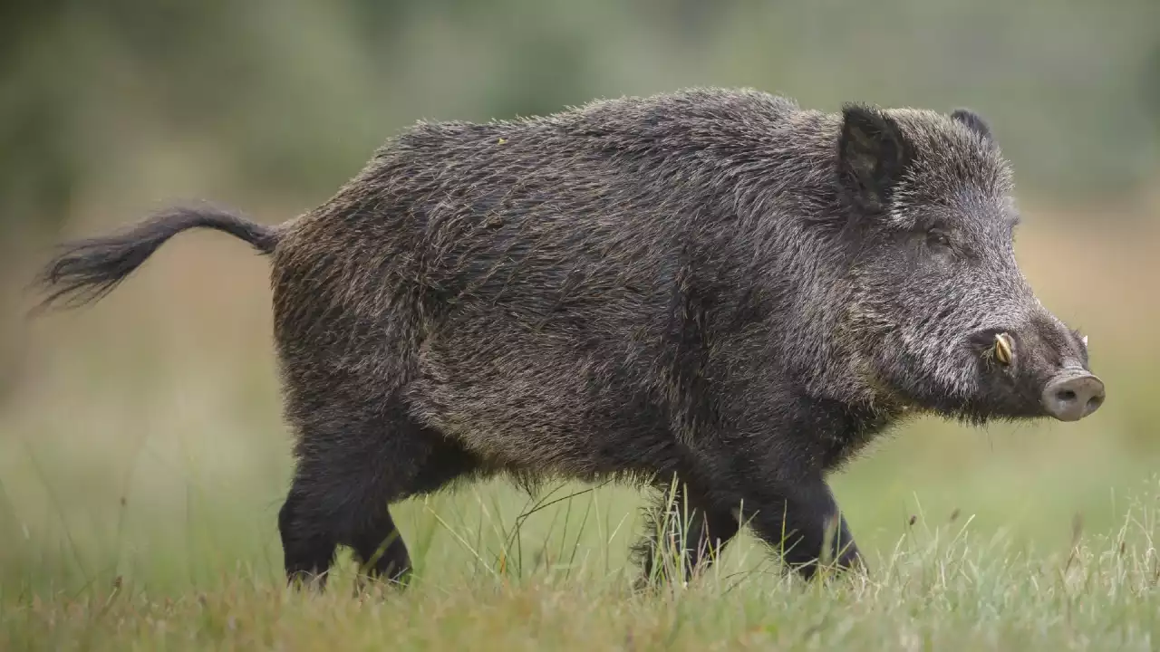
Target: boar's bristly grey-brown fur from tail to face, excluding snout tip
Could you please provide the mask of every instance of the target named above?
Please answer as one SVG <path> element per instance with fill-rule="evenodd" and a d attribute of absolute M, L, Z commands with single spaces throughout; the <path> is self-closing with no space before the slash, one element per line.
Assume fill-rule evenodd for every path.
<path fill-rule="evenodd" d="M 839 514 L 826 476 L 876 436 L 1039 416 L 1044 378 L 1086 367 L 1015 263 L 1010 193 L 971 111 L 691 89 L 420 123 L 277 231 L 179 211 L 44 278 L 103 296 L 191 226 L 271 254 L 290 578 L 325 577 L 341 544 L 403 580 L 387 505 L 492 473 L 676 478 L 690 541 L 724 545 L 744 504 L 810 575 Z"/>

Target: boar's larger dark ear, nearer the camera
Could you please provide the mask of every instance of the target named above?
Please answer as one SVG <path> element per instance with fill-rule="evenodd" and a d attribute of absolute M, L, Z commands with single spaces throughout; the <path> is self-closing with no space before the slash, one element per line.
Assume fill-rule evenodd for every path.
<path fill-rule="evenodd" d="M 842 189 L 861 208 L 884 210 L 911 157 L 902 129 L 880 109 L 847 104 L 838 147 Z"/>

